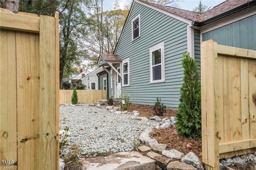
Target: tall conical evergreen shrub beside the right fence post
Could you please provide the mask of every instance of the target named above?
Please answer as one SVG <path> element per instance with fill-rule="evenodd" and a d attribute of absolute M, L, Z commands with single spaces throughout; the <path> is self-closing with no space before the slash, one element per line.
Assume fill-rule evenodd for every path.
<path fill-rule="evenodd" d="M 184 69 L 180 104 L 176 119 L 178 132 L 189 138 L 201 137 L 201 84 L 196 61 L 189 53 L 182 55 Z"/>

